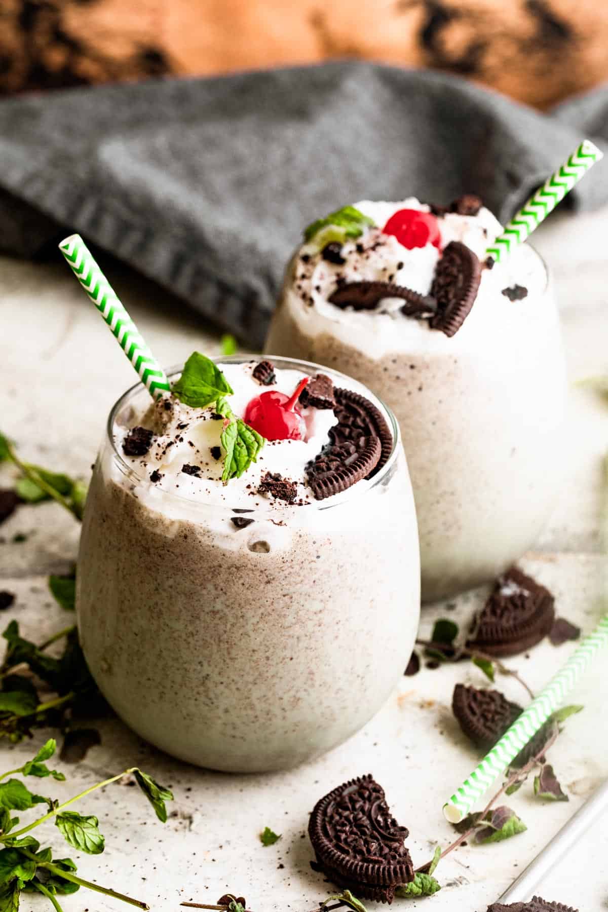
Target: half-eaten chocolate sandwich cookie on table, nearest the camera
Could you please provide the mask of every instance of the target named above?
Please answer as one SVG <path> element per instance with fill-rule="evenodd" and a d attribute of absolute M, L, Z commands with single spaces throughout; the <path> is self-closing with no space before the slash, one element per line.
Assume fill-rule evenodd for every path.
<path fill-rule="evenodd" d="M 325 876 L 355 896 L 391 903 L 397 886 L 414 879 L 407 829 L 390 814 L 371 775 L 345 782 L 317 802 L 308 834 Z"/>

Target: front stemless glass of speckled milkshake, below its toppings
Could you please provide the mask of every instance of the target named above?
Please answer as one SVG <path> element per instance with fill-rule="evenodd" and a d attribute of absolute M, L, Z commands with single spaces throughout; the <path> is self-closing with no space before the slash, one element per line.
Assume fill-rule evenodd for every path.
<path fill-rule="evenodd" d="M 419 553 L 397 422 L 329 373 L 382 409 L 389 460 L 335 503 L 258 510 L 241 529 L 223 504 L 162 492 L 122 459 L 115 431 L 149 404 L 146 389 L 110 413 L 82 528 L 78 629 L 110 705 L 181 760 L 229 772 L 294 766 L 360 729 L 407 665 Z"/>

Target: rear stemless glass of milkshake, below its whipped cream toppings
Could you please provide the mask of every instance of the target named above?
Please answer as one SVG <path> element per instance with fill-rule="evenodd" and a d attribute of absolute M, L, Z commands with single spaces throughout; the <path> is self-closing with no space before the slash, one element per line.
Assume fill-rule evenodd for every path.
<path fill-rule="evenodd" d="M 452 338 L 417 320 L 357 313 L 346 323 L 292 293 L 296 258 L 266 347 L 366 383 L 394 410 L 417 508 L 422 598 L 487 582 L 527 551 L 564 471 L 565 361 L 541 257 L 537 288 L 510 300 L 490 274 Z M 538 271 L 538 272 L 537 272 Z"/>

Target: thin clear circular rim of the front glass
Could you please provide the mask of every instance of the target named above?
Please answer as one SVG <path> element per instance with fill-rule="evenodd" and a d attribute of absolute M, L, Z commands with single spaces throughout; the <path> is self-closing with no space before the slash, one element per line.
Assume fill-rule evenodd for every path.
<path fill-rule="evenodd" d="M 260 357 L 261 356 L 258 356 L 255 354 L 252 354 L 252 355 L 227 355 L 227 356 L 220 355 L 216 358 L 211 358 L 211 360 L 215 364 L 247 364 L 250 361 L 255 361 L 256 359 L 259 359 Z M 306 373 L 309 373 L 312 371 L 314 371 L 314 373 L 317 373 L 318 371 L 326 372 L 327 374 L 329 374 L 330 376 L 333 376 L 334 378 L 345 379 L 347 381 L 347 385 L 350 385 L 351 388 L 352 388 L 352 384 L 355 383 L 358 388 L 366 391 L 367 396 L 370 397 L 371 401 L 374 404 L 379 405 L 381 407 L 381 409 L 383 409 L 383 411 L 386 415 L 386 420 L 388 422 L 388 426 L 393 434 L 393 448 L 390 451 L 390 455 L 389 455 L 388 459 L 386 460 L 385 465 L 383 465 L 383 467 L 380 469 L 380 471 L 377 472 L 377 474 L 374 476 L 374 478 L 371 480 L 371 482 L 366 486 L 366 488 L 364 490 L 359 489 L 359 491 L 357 492 L 357 490 L 356 490 L 357 485 L 353 485 L 351 488 L 347 488 L 345 492 L 342 492 L 341 494 L 337 495 L 337 497 L 339 499 L 333 501 L 333 503 L 325 503 L 325 501 L 312 500 L 311 503 L 306 504 L 306 507 L 307 508 L 313 507 L 314 510 L 333 510 L 340 506 L 343 506 L 345 503 L 352 502 L 354 497 L 357 497 L 357 496 L 365 497 L 366 494 L 373 491 L 378 484 L 381 484 L 385 480 L 386 475 L 389 472 L 391 472 L 393 466 L 397 462 L 399 453 L 402 449 L 401 448 L 401 430 L 399 429 L 399 424 L 397 422 L 397 418 L 395 417 L 393 410 L 390 409 L 389 406 L 386 405 L 386 402 L 383 399 L 380 399 L 379 396 L 376 396 L 376 393 L 372 392 L 371 389 L 367 389 L 365 384 L 360 383 L 358 380 L 355 380 L 354 378 L 348 377 L 346 374 L 343 374 L 339 370 L 335 370 L 334 368 L 327 368 L 327 367 L 325 367 L 325 365 L 315 364 L 313 361 L 304 361 L 304 360 L 301 360 L 300 358 L 281 358 L 279 356 L 273 356 L 273 355 L 264 355 L 263 358 L 267 359 L 267 360 L 271 360 L 273 362 L 273 364 L 279 368 L 281 368 L 281 366 L 286 366 L 287 368 L 300 368 L 300 369 L 304 368 L 304 372 L 306 372 Z M 312 370 L 308 371 L 305 368 L 312 368 Z M 173 367 L 168 368 L 165 371 L 165 373 L 166 373 L 167 377 L 170 379 L 170 378 L 174 377 L 176 374 L 180 374 L 182 369 L 183 369 L 183 364 L 175 365 Z M 119 397 L 119 399 L 116 400 L 116 402 L 114 403 L 114 405 L 112 406 L 112 408 L 109 411 L 108 420 L 106 422 L 106 429 L 105 429 L 106 439 L 104 442 L 106 445 L 109 445 L 112 460 L 117 464 L 119 471 L 124 476 L 129 478 L 129 480 L 131 480 L 134 483 L 137 483 L 137 484 L 143 483 L 143 484 L 151 485 L 151 482 L 149 482 L 149 479 L 145 475 L 139 474 L 139 472 L 137 472 L 133 468 L 133 466 L 129 465 L 129 462 L 127 462 L 123 458 L 122 454 L 118 450 L 116 440 L 115 440 L 115 434 L 114 434 L 116 419 L 119 415 L 120 410 L 129 404 L 129 399 L 135 399 L 135 397 L 145 389 L 146 388 L 145 388 L 144 384 L 141 381 L 139 381 L 139 383 L 134 383 L 132 387 L 129 387 L 129 389 L 125 390 L 125 392 L 122 393 L 122 395 Z M 151 399 L 150 399 L 150 402 L 151 402 Z M 229 484 L 230 484 L 230 482 L 229 482 Z M 239 510 L 238 502 L 237 502 L 236 507 L 231 507 L 227 503 L 207 503 L 204 500 L 196 500 L 195 498 L 192 498 L 192 497 L 186 497 L 183 494 L 175 493 L 172 491 L 163 491 L 160 488 L 155 488 L 154 490 L 155 490 L 155 493 L 158 495 L 159 502 L 168 501 L 169 503 L 187 504 L 188 508 L 190 510 L 193 509 L 195 511 L 214 511 L 214 512 L 216 511 L 216 512 L 222 512 L 222 513 L 233 513 L 235 509 L 237 511 Z M 280 506 L 277 505 L 277 506 L 275 506 L 275 508 L 272 511 L 271 510 L 261 510 L 260 508 L 248 510 L 247 515 L 253 516 L 253 515 L 257 514 L 261 519 L 263 519 L 263 518 L 271 519 L 273 517 L 273 515 L 276 515 L 277 513 L 286 513 L 286 512 L 290 512 L 290 511 L 294 511 L 294 510 L 299 511 L 300 509 L 302 509 L 302 508 L 299 506 L 294 507 L 294 504 L 285 503 L 284 507 L 283 507 L 283 505 L 280 505 Z"/>

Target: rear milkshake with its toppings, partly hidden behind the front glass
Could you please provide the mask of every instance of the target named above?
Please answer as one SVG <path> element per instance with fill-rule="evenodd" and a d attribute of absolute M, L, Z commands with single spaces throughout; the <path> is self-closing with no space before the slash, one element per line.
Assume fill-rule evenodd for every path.
<path fill-rule="evenodd" d="M 422 596 L 494 578 L 533 544 L 563 472 L 565 368 L 544 265 L 494 263 L 479 198 L 358 202 L 310 225 L 267 349 L 344 371 L 399 421 Z"/>

